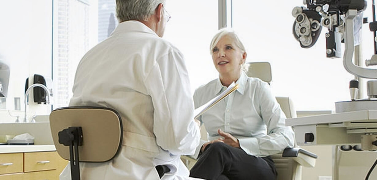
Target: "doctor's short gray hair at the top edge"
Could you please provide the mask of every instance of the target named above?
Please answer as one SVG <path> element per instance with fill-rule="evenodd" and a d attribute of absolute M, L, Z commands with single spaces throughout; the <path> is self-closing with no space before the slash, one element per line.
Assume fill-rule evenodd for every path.
<path fill-rule="evenodd" d="M 116 17 L 119 23 L 128 20 L 147 21 L 160 3 L 166 0 L 116 0 Z"/>

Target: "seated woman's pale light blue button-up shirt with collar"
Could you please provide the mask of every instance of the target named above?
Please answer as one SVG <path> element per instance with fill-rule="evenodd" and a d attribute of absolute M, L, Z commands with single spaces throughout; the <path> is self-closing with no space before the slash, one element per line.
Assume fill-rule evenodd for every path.
<path fill-rule="evenodd" d="M 244 72 L 236 82 L 238 89 L 198 118 L 204 123 L 208 140 L 218 139 L 218 129 L 239 140 L 241 148 L 253 156 L 269 156 L 294 145 L 294 133 L 285 126 L 285 114 L 272 95 L 270 86 Z M 220 79 L 197 88 L 195 108 L 225 90 Z M 194 156 L 198 157 L 202 141 Z"/>

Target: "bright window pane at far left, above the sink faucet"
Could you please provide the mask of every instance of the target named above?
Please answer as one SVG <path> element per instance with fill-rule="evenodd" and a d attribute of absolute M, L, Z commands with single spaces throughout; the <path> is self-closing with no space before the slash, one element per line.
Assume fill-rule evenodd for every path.
<path fill-rule="evenodd" d="M 20 98 L 24 110 L 25 81 L 30 75 L 51 78 L 51 12 L 52 1 L 0 1 L 0 61 L 10 67 L 8 110 L 18 109 L 14 98 Z"/>

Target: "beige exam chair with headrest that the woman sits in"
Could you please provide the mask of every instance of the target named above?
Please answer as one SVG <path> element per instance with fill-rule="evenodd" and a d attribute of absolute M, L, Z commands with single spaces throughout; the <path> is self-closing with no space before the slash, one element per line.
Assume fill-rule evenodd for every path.
<path fill-rule="evenodd" d="M 270 63 L 246 63 L 245 70 L 249 77 L 256 77 L 270 84 L 272 79 Z M 293 102 L 289 97 L 276 97 L 276 100 L 287 118 L 296 117 L 296 110 L 294 110 Z M 203 140 L 207 140 L 205 127 L 201 128 L 201 137 Z M 297 147 L 296 142 L 295 147 L 286 148 L 282 153 L 270 157 L 276 166 L 277 180 L 301 180 L 302 166 L 314 167 L 317 159 L 316 154 Z M 189 169 L 196 163 L 196 159 L 189 156 L 181 156 L 181 160 Z"/>

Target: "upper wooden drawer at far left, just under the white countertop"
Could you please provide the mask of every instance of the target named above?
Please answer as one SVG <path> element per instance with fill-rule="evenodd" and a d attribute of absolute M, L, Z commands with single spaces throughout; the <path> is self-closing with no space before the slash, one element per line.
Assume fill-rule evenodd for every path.
<path fill-rule="evenodd" d="M 23 172 L 23 153 L 0 154 L 0 174 Z"/>

